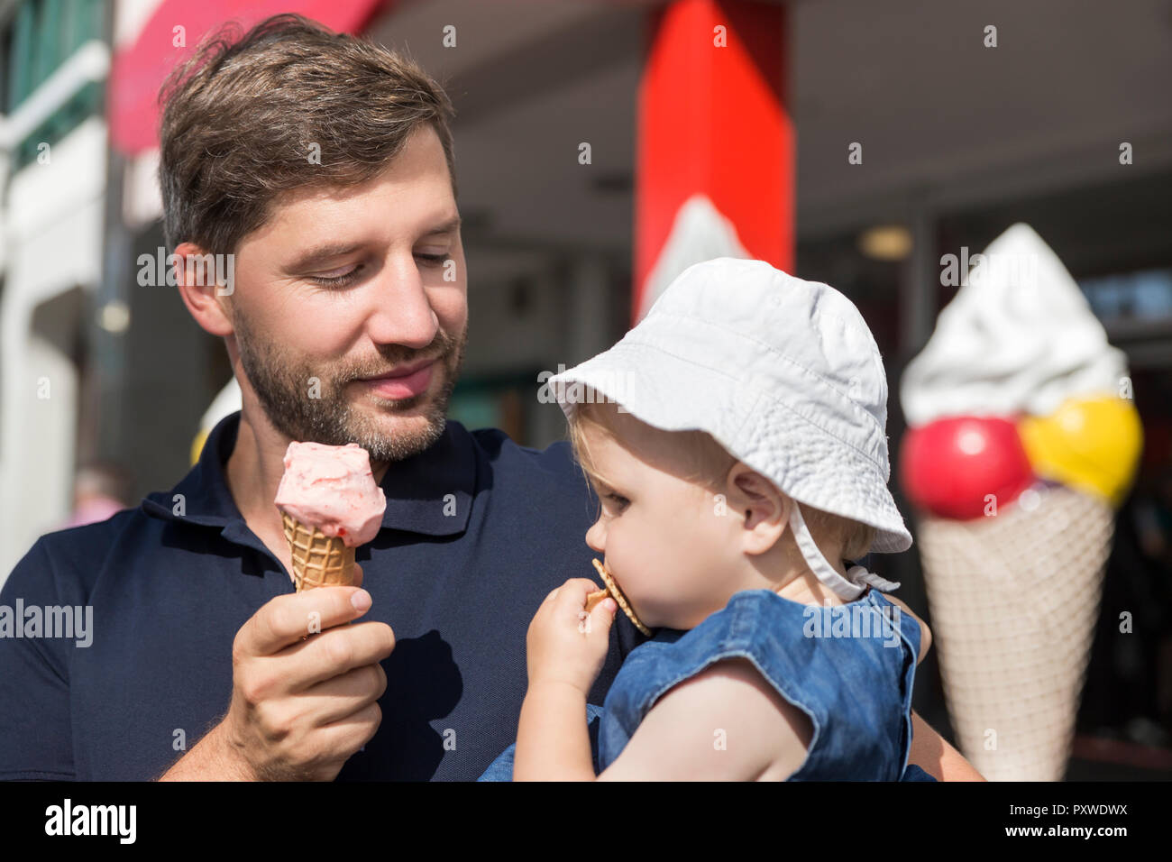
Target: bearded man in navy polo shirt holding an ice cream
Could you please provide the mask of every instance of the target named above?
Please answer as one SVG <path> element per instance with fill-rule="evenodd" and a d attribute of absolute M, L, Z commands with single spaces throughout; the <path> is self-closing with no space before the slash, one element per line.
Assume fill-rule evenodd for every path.
<path fill-rule="evenodd" d="M 475 779 L 516 738 L 533 611 L 591 571 L 598 501 L 565 443 L 444 420 L 468 326 L 451 106 L 292 15 L 206 42 L 164 95 L 166 242 L 243 410 L 170 493 L 13 571 L 0 604 L 94 619 L 87 647 L 0 639 L 0 778 Z M 199 276 L 207 254 L 229 279 Z M 293 593 L 273 504 L 292 440 L 370 454 L 364 589 Z M 591 703 L 640 643 L 616 632 Z M 918 727 L 914 761 L 973 774 Z"/>

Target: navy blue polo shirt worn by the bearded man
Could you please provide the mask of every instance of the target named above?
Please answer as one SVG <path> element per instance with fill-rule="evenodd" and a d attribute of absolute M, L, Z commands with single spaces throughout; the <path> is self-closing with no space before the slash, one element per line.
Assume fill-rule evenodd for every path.
<path fill-rule="evenodd" d="M 293 592 L 224 481 L 239 419 L 171 491 L 47 534 L 16 564 L 0 605 L 22 605 L 23 632 L 30 608 L 89 605 L 93 623 L 88 646 L 47 626 L 0 637 L 0 779 L 155 779 L 227 711 L 237 631 Z M 568 443 L 539 452 L 451 420 L 381 484 L 382 528 L 356 552 L 374 599 L 361 619 L 389 624 L 396 645 L 382 725 L 338 778 L 470 781 L 516 741 L 538 605 L 594 577 L 598 501 Z M 619 613 L 590 703 L 642 639 Z"/>

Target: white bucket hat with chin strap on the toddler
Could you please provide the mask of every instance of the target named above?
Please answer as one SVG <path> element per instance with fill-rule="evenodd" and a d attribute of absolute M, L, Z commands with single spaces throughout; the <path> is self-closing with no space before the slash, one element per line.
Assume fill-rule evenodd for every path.
<path fill-rule="evenodd" d="M 608 351 L 550 378 L 573 415 L 615 401 L 663 430 L 708 432 L 786 496 L 875 528 L 874 552 L 912 536 L 887 490 L 887 375 L 859 310 L 833 287 L 761 260 L 716 258 L 684 270 Z M 798 507 L 790 528 L 811 571 L 846 600 L 884 581 L 843 578 Z"/>

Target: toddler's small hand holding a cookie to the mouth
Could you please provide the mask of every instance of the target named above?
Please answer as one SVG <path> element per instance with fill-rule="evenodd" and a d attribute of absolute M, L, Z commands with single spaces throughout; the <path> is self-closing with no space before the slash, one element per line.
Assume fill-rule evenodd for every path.
<path fill-rule="evenodd" d="M 571 578 L 537 609 L 529 624 L 529 684 L 563 681 L 588 695 L 602 670 L 611 624 L 619 610 L 611 597 L 586 613 L 586 596 L 598 590 L 590 578 Z"/>

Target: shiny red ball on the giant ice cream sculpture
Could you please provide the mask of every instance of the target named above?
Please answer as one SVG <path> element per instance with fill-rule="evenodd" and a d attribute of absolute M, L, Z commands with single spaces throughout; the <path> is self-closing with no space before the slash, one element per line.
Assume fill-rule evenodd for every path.
<path fill-rule="evenodd" d="M 1034 470 L 1013 421 L 950 416 L 909 428 L 900 443 L 899 478 L 914 505 L 958 521 L 1013 502 Z M 992 495 L 992 496 L 990 496 Z"/>

